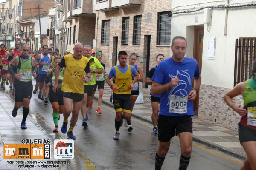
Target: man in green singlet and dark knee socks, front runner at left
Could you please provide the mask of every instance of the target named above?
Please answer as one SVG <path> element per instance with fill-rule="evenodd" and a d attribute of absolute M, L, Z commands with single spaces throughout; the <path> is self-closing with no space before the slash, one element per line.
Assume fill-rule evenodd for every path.
<path fill-rule="evenodd" d="M 15 77 L 15 105 L 12 116 L 17 116 L 18 109 L 23 105 L 23 117 L 21 129 L 26 129 L 26 118 L 29 114 L 29 103 L 32 96 L 33 84 L 32 77 L 36 77 L 35 59 L 28 55 L 29 45 L 22 45 L 22 54 L 12 59 L 9 65 L 9 72 Z"/>

